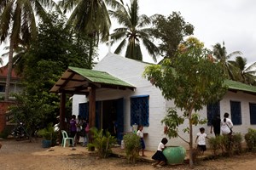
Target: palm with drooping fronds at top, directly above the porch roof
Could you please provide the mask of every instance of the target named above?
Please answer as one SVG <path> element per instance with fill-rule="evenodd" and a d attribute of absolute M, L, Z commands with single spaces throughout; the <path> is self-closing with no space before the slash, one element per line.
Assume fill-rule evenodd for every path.
<path fill-rule="evenodd" d="M 72 11 L 67 24 L 71 24 L 76 31 L 91 38 L 90 58 L 92 58 L 95 53 L 94 47 L 98 46 L 98 42 L 108 40 L 111 21 L 107 5 L 116 8 L 119 2 L 116 0 L 61 0 L 59 4 L 64 9 L 64 13 Z"/>

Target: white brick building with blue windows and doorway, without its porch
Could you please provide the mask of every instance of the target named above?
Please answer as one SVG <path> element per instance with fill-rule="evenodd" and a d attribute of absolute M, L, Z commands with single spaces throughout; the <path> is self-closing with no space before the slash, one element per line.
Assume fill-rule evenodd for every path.
<path fill-rule="evenodd" d="M 161 120 L 166 116 L 166 110 L 175 105 L 173 101 L 164 99 L 159 88 L 155 88 L 143 78 L 143 71 L 147 65 L 150 64 L 109 53 L 94 67 L 94 71 L 105 71 L 135 87 L 133 91 L 96 89 L 96 127 L 106 129 L 112 120 L 116 120 L 120 140 L 124 133 L 131 132 L 133 124 L 142 124 L 143 132 L 146 133 L 146 150 L 155 150 L 160 140 L 166 137 Z M 256 128 L 256 87 L 241 82 L 226 83 L 230 89 L 224 98 L 218 104 L 208 105 L 199 112 L 202 117 L 209 120 L 215 112 L 219 112 L 221 117 L 224 112 L 229 112 L 235 125 L 234 132 L 247 133 L 247 128 Z M 85 95 L 73 95 L 73 114 L 88 116 L 86 102 Z M 178 114 L 182 115 L 183 112 L 178 111 Z M 179 127 L 179 134 L 183 139 L 189 140 L 189 134 L 183 133 L 182 130 L 187 126 L 188 122 L 184 122 Z M 193 127 L 194 138 L 199 132 L 199 127 L 205 127 L 206 133 L 213 136 L 210 134 L 209 125 L 205 124 Z M 189 144 L 179 138 L 170 139 L 168 144 L 189 147 Z"/>

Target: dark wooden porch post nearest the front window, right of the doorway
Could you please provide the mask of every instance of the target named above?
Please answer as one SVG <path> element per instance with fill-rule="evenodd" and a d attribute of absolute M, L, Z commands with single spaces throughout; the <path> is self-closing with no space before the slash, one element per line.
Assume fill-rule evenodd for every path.
<path fill-rule="evenodd" d="M 89 125 L 90 127 L 96 126 L 96 89 L 90 88 L 89 89 Z M 92 136 L 89 133 L 89 141 L 91 142 Z"/>

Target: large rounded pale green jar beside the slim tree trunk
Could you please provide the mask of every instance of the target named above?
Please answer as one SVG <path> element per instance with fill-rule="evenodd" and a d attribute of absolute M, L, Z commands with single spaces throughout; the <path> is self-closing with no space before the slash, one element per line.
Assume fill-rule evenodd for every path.
<path fill-rule="evenodd" d="M 182 146 L 167 146 L 163 151 L 169 165 L 183 164 L 186 150 Z"/>

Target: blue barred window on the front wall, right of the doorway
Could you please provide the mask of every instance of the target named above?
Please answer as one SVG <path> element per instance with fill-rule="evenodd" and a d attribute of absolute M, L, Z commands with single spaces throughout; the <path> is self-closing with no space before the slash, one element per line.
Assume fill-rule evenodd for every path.
<path fill-rule="evenodd" d="M 148 127 L 148 99 L 149 96 L 131 97 L 131 126 L 133 124 Z"/>

